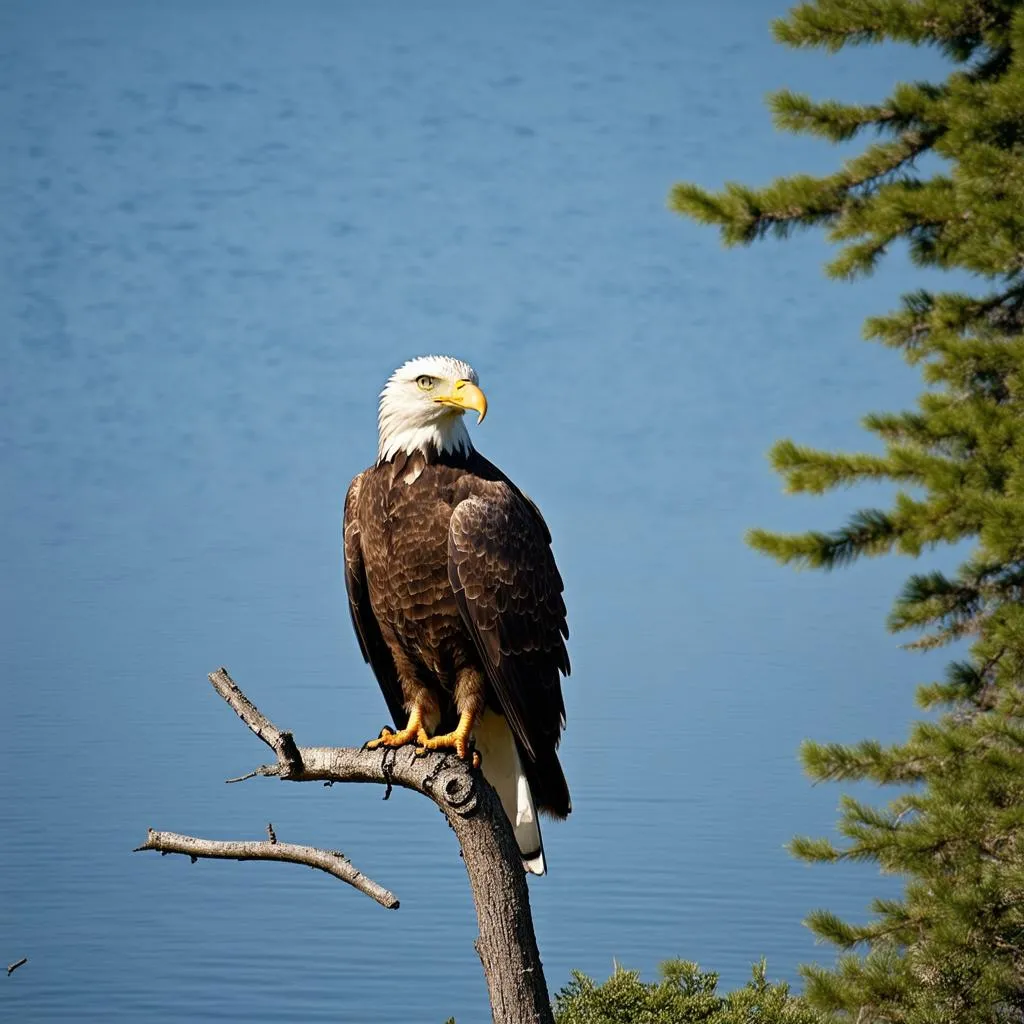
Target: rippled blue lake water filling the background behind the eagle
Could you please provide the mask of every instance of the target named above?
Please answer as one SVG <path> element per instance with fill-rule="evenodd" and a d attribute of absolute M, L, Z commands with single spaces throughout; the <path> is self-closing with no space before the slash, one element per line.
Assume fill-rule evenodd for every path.
<path fill-rule="evenodd" d="M 226 665 L 304 743 L 385 721 L 341 505 L 406 358 L 470 360 L 479 449 L 566 581 L 568 821 L 531 880 L 552 993 L 669 956 L 741 984 L 828 958 L 801 919 L 895 882 L 810 868 L 808 736 L 895 739 L 907 563 L 795 573 L 744 529 L 780 436 L 862 446 L 916 384 L 858 340 L 920 285 L 825 281 L 814 237 L 726 252 L 670 186 L 840 155 L 773 132 L 788 86 L 878 99 L 936 56 L 772 44 L 774 3 L 0 4 L 0 1018 L 488 1019 L 454 839 L 415 794 L 223 779 L 265 749 Z M 384 911 L 275 864 L 131 854 L 146 826 L 343 849 Z"/>

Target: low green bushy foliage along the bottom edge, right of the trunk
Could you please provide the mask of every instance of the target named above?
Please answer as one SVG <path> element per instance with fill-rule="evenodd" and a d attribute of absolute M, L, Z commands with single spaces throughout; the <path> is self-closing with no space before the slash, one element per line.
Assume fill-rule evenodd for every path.
<path fill-rule="evenodd" d="M 603 985 L 573 973 L 555 997 L 556 1024 L 824 1024 L 826 1018 L 771 984 L 764 961 L 742 988 L 718 994 L 718 975 L 688 961 L 668 961 L 662 979 L 644 982 L 616 968 Z"/>

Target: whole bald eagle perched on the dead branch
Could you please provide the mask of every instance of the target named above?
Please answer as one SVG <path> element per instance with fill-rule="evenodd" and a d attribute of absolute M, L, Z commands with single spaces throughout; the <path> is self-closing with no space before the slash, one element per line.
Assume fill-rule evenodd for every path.
<path fill-rule="evenodd" d="M 497 791 L 523 866 L 546 870 L 538 811 L 564 818 L 556 749 L 568 628 L 537 506 L 474 447 L 487 400 L 472 367 L 423 356 L 381 392 L 377 462 L 345 497 L 345 584 L 362 656 L 397 732 L 471 758 Z"/>

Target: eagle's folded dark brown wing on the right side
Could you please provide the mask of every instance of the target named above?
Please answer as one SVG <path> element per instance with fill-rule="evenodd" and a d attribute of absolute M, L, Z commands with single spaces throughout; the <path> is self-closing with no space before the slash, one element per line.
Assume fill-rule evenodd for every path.
<path fill-rule="evenodd" d="M 559 817 L 569 794 L 555 753 L 565 724 L 559 673 L 568 628 L 551 535 L 514 485 L 487 481 L 449 528 L 449 580 L 538 805 Z"/>

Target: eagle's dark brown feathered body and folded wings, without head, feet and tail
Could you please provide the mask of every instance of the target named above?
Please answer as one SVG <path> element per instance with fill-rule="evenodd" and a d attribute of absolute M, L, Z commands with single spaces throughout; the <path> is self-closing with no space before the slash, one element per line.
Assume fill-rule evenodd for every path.
<path fill-rule="evenodd" d="M 428 729 L 453 728 L 467 709 L 499 713 L 537 807 L 564 817 L 568 631 L 550 545 L 532 502 L 472 449 L 399 452 L 345 500 L 352 622 L 395 724 L 414 703 Z"/>

